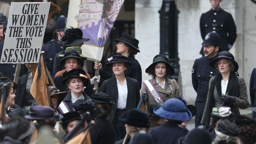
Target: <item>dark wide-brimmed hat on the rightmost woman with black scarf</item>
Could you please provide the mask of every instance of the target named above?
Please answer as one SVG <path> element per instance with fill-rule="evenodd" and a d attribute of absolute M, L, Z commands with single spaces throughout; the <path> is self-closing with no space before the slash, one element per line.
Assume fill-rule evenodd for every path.
<path fill-rule="evenodd" d="M 238 74 L 239 66 L 238 66 L 237 62 L 235 61 L 235 57 L 233 56 L 233 54 L 231 54 L 228 51 L 219 52 L 217 54 L 216 58 L 209 62 L 210 66 L 215 68 L 214 65 L 216 64 L 216 62 L 218 62 L 219 59 L 228 59 L 228 60 L 230 60 L 232 62 L 232 64 L 234 64 L 234 66 L 235 66 L 235 73 Z"/>

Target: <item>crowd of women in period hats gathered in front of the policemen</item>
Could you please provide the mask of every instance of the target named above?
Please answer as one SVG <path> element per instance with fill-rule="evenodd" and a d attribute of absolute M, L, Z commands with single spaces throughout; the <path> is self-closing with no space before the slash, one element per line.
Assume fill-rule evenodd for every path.
<path fill-rule="evenodd" d="M 189 132 L 186 125 L 197 110 L 187 105 L 176 80 L 167 78 L 174 68 L 166 56 L 154 57 L 145 70 L 152 79 L 142 82 L 142 70 L 134 58 L 140 52 L 139 41 L 122 33 L 116 40 L 118 55 L 107 59 L 112 73 L 95 63 L 100 77 L 90 78 L 83 70 L 86 57 L 81 50 L 88 39 L 71 36 L 80 31 L 70 28 L 62 38 L 66 49 L 58 58 L 64 69 L 53 79 L 56 87 L 49 87 L 52 107 L 37 106 L 29 92 L 31 72 L 19 78 L 18 85 L 1 76 L 1 97 L 7 95 L 8 114 L 7 122 L 1 125 L 1 141 L 66 143 L 80 121 L 95 120 L 90 129 L 92 144 L 255 144 L 256 120 L 239 113 L 239 108 L 246 109 L 249 102 L 245 81 L 235 75 L 238 64 L 230 52 L 220 52 L 210 62 L 220 73 L 209 83 L 201 120 L 204 127 Z M 95 93 L 92 85 L 100 78 L 104 82 Z M 145 109 L 141 106 L 140 110 L 136 108 L 142 93 L 146 93 Z M 45 126 L 50 132 L 42 132 Z"/>

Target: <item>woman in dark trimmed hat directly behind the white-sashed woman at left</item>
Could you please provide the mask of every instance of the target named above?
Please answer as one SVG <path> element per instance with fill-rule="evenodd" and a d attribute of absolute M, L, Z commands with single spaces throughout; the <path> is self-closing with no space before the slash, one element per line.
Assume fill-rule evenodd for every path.
<path fill-rule="evenodd" d="M 59 76 L 53 78 L 53 82 L 60 92 L 64 92 L 68 91 L 68 87 L 62 83 L 62 80 L 64 79 L 63 75 L 74 68 L 82 69 L 86 57 L 82 54 L 82 49 L 80 47 L 67 47 L 66 53 L 60 54 L 59 57 L 62 58 L 60 64 L 65 67 L 65 70 L 63 70 Z M 88 73 L 85 75 L 90 80 L 90 75 Z M 90 96 L 93 93 L 92 85 L 87 83 L 84 86 L 86 86 L 85 93 Z"/>

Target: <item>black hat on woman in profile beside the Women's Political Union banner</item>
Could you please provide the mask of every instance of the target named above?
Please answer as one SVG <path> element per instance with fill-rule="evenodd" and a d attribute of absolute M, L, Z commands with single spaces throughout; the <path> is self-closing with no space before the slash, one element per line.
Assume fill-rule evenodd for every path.
<path fill-rule="evenodd" d="M 130 45 L 132 48 L 134 48 L 137 52 L 140 52 L 139 50 L 139 40 L 136 38 L 133 38 L 132 36 L 128 35 L 127 33 L 122 33 L 119 39 L 115 40 L 116 42 L 124 42 L 128 45 Z"/>

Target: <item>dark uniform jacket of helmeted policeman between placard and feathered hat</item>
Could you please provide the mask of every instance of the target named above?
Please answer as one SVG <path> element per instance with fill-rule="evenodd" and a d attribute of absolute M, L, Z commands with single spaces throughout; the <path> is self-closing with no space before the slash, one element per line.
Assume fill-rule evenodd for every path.
<path fill-rule="evenodd" d="M 55 55 L 62 51 L 62 44 L 59 42 L 59 40 L 51 40 L 50 42 L 47 42 L 43 47 L 42 51 L 45 51 L 45 62 L 46 66 L 53 77 L 53 61 L 55 58 Z"/>

